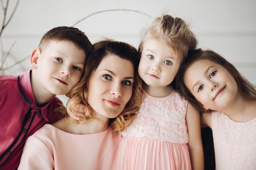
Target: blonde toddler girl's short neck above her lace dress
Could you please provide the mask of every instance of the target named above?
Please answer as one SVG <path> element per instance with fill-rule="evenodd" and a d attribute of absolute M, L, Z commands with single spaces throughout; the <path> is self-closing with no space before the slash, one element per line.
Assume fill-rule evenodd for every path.
<path fill-rule="evenodd" d="M 146 85 L 145 90 L 150 96 L 161 98 L 161 97 L 168 96 L 173 91 L 173 88 L 171 87 L 171 85 L 166 85 L 166 86 Z"/>

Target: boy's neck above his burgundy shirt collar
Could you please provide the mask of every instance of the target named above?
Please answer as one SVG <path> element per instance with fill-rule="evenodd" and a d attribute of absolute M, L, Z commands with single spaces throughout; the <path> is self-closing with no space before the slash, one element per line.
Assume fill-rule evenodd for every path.
<path fill-rule="evenodd" d="M 35 102 L 37 105 L 44 104 L 46 102 L 49 102 L 51 99 L 53 99 L 56 95 L 53 93 L 50 93 L 48 90 L 46 90 L 43 85 L 40 83 L 39 80 L 37 80 L 37 75 L 35 73 L 35 70 L 31 71 L 31 77 L 30 77 Z"/>

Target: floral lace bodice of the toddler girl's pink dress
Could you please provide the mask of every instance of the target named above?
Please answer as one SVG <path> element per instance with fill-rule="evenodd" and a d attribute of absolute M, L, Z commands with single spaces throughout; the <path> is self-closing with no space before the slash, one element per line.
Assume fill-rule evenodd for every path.
<path fill-rule="evenodd" d="M 187 103 L 176 91 L 163 98 L 155 98 L 144 92 L 137 117 L 122 135 L 188 143 L 185 121 Z"/>

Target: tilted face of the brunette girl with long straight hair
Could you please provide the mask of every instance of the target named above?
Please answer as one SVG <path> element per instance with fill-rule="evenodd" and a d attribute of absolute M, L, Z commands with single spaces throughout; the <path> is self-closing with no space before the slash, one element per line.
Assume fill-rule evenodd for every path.
<path fill-rule="evenodd" d="M 237 97 L 233 76 L 221 65 L 207 59 L 194 62 L 186 70 L 184 82 L 205 109 L 225 110 Z"/>

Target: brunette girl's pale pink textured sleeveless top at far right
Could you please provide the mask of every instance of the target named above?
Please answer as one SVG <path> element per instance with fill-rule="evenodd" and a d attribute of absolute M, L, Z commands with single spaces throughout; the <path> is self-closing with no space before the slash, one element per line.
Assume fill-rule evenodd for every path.
<path fill-rule="evenodd" d="M 236 122 L 212 113 L 216 170 L 256 170 L 256 118 Z"/>

